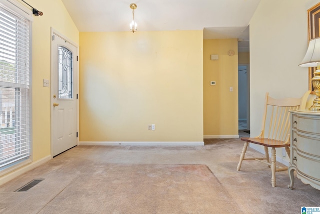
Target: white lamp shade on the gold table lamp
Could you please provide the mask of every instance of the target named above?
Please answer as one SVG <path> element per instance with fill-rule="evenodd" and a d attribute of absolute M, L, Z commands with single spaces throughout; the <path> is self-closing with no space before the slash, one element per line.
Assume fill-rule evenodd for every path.
<path fill-rule="evenodd" d="M 320 38 L 309 40 L 309 46 L 300 63 L 301 67 L 316 67 L 320 63 Z"/>

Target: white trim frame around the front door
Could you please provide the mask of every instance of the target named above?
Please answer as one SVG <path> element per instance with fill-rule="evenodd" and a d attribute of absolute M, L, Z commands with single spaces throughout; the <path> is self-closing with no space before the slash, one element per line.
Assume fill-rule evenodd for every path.
<path fill-rule="evenodd" d="M 59 33 L 58 31 L 56 31 L 54 28 L 51 27 L 51 34 L 50 34 L 50 80 L 52 80 L 52 75 L 53 75 L 53 63 L 52 63 L 52 38 L 51 36 L 55 35 L 57 37 L 60 37 L 61 39 L 63 39 L 64 41 L 66 41 L 67 43 L 71 44 L 72 46 L 74 46 L 76 48 L 76 56 L 79 56 L 79 45 L 72 42 L 72 40 L 68 39 L 67 37 L 65 37 L 63 34 Z M 79 94 L 79 58 L 77 61 L 75 61 L 76 63 L 76 71 L 73 70 L 73 72 L 76 72 L 77 74 L 77 78 L 76 78 L 76 91 L 75 93 L 78 95 Z M 53 112 L 52 112 L 52 108 L 51 106 L 53 105 L 53 103 L 51 102 L 51 95 L 52 93 L 52 87 L 51 87 L 52 82 L 50 81 L 50 154 L 51 154 L 51 158 L 53 157 L 52 155 L 52 146 L 53 146 L 53 134 L 52 134 L 52 117 L 53 117 Z M 79 96 L 77 96 L 76 99 L 76 130 L 77 132 L 79 132 Z M 76 145 L 79 145 L 79 133 L 77 135 L 76 138 Z"/>

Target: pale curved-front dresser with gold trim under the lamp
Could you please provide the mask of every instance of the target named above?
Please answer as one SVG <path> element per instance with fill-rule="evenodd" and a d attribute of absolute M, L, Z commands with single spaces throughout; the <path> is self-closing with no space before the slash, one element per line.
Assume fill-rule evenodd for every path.
<path fill-rule="evenodd" d="M 305 184 L 320 189 L 320 113 L 290 111 L 290 177 L 289 189 L 293 188 L 294 176 Z"/>

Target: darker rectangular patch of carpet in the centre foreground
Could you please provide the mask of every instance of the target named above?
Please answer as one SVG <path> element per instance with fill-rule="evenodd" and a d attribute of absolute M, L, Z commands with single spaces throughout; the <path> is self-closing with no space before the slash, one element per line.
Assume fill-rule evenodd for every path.
<path fill-rule="evenodd" d="M 222 207 L 234 213 L 237 208 L 205 165 L 101 164 L 88 172 L 41 213 L 212 213 Z M 101 176 L 90 175 L 95 173 Z M 45 188 L 45 180 L 34 188 Z"/>

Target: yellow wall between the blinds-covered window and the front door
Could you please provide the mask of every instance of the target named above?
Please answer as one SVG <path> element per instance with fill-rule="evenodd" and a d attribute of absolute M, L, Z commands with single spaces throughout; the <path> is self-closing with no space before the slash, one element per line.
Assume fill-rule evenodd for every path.
<path fill-rule="evenodd" d="M 51 155 L 50 80 L 51 27 L 78 44 L 79 32 L 60 0 L 29 0 L 28 4 L 43 12 L 32 24 L 32 157 L 33 161 Z"/>

